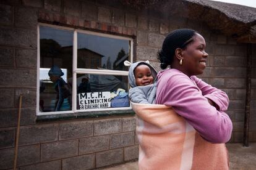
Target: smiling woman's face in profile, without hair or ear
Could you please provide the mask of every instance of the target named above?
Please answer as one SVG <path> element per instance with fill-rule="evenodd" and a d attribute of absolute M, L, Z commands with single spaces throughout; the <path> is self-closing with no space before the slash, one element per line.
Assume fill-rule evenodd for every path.
<path fill-rule="evenodd" d="M 187 45 L 182 51 L 182 68 L 186 75 L 201 75 L 206 67 L 208 54 L 205 52 L 205 39 L 196 33 L 193 36 L 194 41 Z"/>

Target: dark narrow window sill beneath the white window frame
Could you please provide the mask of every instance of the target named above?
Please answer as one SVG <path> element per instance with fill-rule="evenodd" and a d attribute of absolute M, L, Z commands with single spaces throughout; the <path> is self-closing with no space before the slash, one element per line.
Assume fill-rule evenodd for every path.
<path fill-rule="evenodd" d="M 103 117 L 127 116 L 127 115 L 135 115 L 135 112 L 133 110 L 109 110 L 109 111 L 90 111 L 90 113 L 79 112 L 79 113 L 66 113 L 66 114 L 58 114 L 58 115 L 40 115 L 40 116 L 36 116 L 36 121 L 45 122 L 45 121 L 103 118 Z"/>

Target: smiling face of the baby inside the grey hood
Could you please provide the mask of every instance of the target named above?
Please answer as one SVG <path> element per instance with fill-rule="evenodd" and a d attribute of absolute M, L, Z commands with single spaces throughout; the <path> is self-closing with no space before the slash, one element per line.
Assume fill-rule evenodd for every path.
<path fill-rule="evenodd" d="M 154 81 L 150 68 L 147 65 L 139 65 L 134 70 L 135 83 L 137 86 L 147 86 Z"/>

